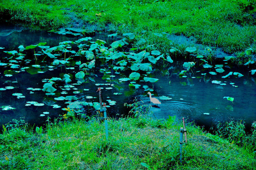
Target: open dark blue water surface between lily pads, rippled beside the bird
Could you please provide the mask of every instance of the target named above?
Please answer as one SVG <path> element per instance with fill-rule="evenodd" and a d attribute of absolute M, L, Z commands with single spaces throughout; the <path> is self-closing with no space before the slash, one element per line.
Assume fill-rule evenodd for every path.
<path fill-rule="evenodd" d="M 78 37 L 66 37 L 65 35 L 58 35 L 54 33 L 48 33 L 46 31 L 31 31 L 22 30 L 21 28 L 14 27 L 0 27 L 0 35 L 4 35 L 8 32 L 6 36 L 0 36 L 0 47 L 5 47 L 5 49 L 0 50 L 0 62 L 8 62 L 8 55 L 2 51 L 12 51 L 18 50 L 19 45 L 24 45 L 24 47 L 31 44 L 38 44 L 40 42 L 47 42 L 46 45 L 50 47 L 58 45 L 62 41 L 75 41 L 79 39 Z M 18 30 L 18 31 L 17 31 Z M 2 34 L 1 34 L 2 32 Z M 102 39 L 111 44 L 114 40 L 113 38 L 107 37 L 107 33 L 96 33 L 91 41 L 96 41 L 96 39 Z M 76 61 L 79 61 L 76 60 Z M 34 62 L 34 63 L 33 63 Z M 11 106 L 16 109 L 13 110 L 1 110 L 0 109 L 0 124 L 5 124 L 12 119 L 19 119 L 20 117 L 25 117 L 25 121 L 30 124 L 40 125 L 46 120 L 46 117 L 51 118 L 58 117 L 64 112 L 61 108 L 67 106 L 63 101 L 53 100 L 54 97 L 46 96 L 42 90 L 33 91 L 31 93 L 27 88 L 42 88 L 44 78 L 60 77 L 60 73 L 72 73 L 78 72 L 78 66 L 74 66 L 74 70 L 66 69 L 68 66 L 56 66 L 53 70 L 49 70 L 50 64 L 46 61 L 44 66 L 40 68 L 44 73 L 33 72 L 32 64 L 36 64 L 35 61 L 28 63 L 32 71 L 19 72 L 13 74 L 11 77 L 4 76 L 4 71 L 7 69 L 4 66 L 0 66 L 0 88 L 5 88 L 6 86 L 14 86 L 14 89 L 0 91 L 0 106 Z M 149 97 L 144 88 L 140 87 L 138 89 L 129 89 L 129 82 L 120 84 L 118 83 L 118 78 L 120 75 L 115 74 L 113 70 L 110 69 L 110 75 L 115 75 L 110 81 L 102 79 L 104 75 L 99 72 L 99 68 L 94 70 L 96 76 L 94 75 L 95 82 L 83 83 L 76 86 L 76 90 L 71 90 L 70 95 L 75 95 L 79 100 L 86 102 L 98 102 L 98 94 L 96 90 L 98 87 L 103 87 L 104 85 L 97 84 L 113 84 L 113 88 L 110 90 L 102 90 L 103 102 L 110 99 L 116 101 L 116 105 L 108 107 L 108 113 L 112 117 L 116 115 L 127 114 L 128 110 L 124 107 L 124 103 L 132 103 L 136 97 L 138 100 L 142 100 L 145 104 L 150 104 Z M 174 62 L 169 64 L 168 67 L 163 67 L 160 70 L 155 70 L 153 73 L 155 78 L 159 81 L 154 83 L 142 82 L 141 85 L 147 85 L 154 89 L 154 94 L 156 98 L 158 96 L 168 96 L 172 100 L 162 100 L 160 108 L 152 108 L 154 111 L 154 116 L 156 118 L 168 118 L 168 115 L 176 115 L 178 119 L 181 117 L 186 117 L 188 121 L 195 121 L 198 125 L 206 127 L 209 129 L 210 126 L 216 125 L 218 121 L 224 122 L 228 121 L 230 118 L 243 119 L 246 124 L 250 126 L 253 121 L 256 121 L 256 86 L 255 78 L 253 75 L 248 73 L 248 70 L 236 70 L 236 72 L 242 73 L 244 76 L 241 78 L 230 77 L 223 79 L 221 76 L 226 75 L 229 71 L 234 71 L 235 68 L 229 69 L 224 68 L 226 71 L 222 74 L 210 75 L 209 70 L 202 70 L 198 67 L 193 70 L 194 73 L 186 74 L 187 77 L 179 77 L 177 72 L 184 70 L 182 68 L 182 62 Z M 167 71 L 165 71 L 167 70 Z M 178 70 L 178 71 L 177 71 Z M 200 71 L 200 72 L 196 72 Z M 164 74 L 163 74 L 164 72 Z M 201 73 L 207 73 L 202 75 Z M 128 74 L 129 75 L 129 74 Z M 212 80 L 220 80 L 226 85 L 213 84 Z M 231 83 L 231 84 L 230 84 Z M 62 84 L 63 86 L 65 84 Z M 234 87 L 232 85 L 238 86 Z M 83 89 L 90 89 L 89 91 L 83 91 Z M 82 91 L 80 94 L 72 94 L 72 91 Z M 114 95 L 114 93 L 122 93 L 121 95 Z M 13 93 L 22 93 L 25 98 L 16 98 L 12 96 Z M 92 96 L 94 98 L 88 99 L 86 96 Z M 234 104 L 232 102 L 224 99 L 223 97 L 230 96 L 234 98 Z M 36 101 L 38 103 L 44 103 L 44 106 L 25 106 L 28 101 Z M 53 108 L 52 104 L 58 104 L 60 108 Z M 88 112 L 88 108 L 85 109 Z M 89 111 L 94 111 L 90 109 Z M 40 117 L 43 112 L 49 112 L 44 117 Z"/>

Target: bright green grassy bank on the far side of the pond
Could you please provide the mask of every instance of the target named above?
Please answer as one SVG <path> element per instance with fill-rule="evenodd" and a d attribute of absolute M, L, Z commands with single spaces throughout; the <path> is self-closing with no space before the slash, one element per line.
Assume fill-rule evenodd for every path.
<path fill-rule="evenodd" d="M 5 0 L 0 2 L 0 12 L 7 20 L 42 28 L 68 25 L 69 15 L 74 14 L 98 29 L 135 33 L 135 42 L 146 39 L 146 45 L 156 44 L 162 52 L 173 44 L 153 33 L 194 36 L 203 45 L 242 52 L 240 58 L 246 49 L 256 47 L 256 2 L 247 0 L 88 0 L 86 4 L 83 0 Z"/>

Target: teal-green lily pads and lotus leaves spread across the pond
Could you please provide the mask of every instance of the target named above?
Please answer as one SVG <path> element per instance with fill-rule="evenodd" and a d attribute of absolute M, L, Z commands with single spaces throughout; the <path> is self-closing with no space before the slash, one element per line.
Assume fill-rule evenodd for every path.
<path fill-rule="evenodd" d="M 116 36 L 117 34 L 111 34 L 109 37 Z M 123 50 L 123 47 L 128 45 L 127 40 L 133 39 L 133 33 L 125 33 L 124 37 L 118 41 L 114 41 L 110 45 L 106 44 L 106 41 L 96 39 L 96 41 L 91 41 L 92 37 L 80 38 L 76 41 L 64 41 L 60 42 L 58 46 L 50 47 L 45 46 L 46 43 L 38 43 L 37 45 L 29 45 L 24 47 L 20 45 L 18 51 L 4 51 L 9 54 L 8 62 L 2 63 L 0 61 L 0 66 L 5 68 L 5 76 L 12 76 L 13 74 L 18 74 L 19 72 L 28 72 L 30 74 L 43 74 L 44 72 L 52 71 L 58 67 L 64 66 L 66 70 L 72 70 L 73 72 L 60 74 L 60 77 L 45 78 L 42 80 L 44 82 L 41 88 L 29 87 L 30 94 L 35 91 L 42 90 L 45 92 L 46 96 L 53 96 L 54 101 L 66 101 L 67 107 L 70 109 L 81 110 L 83 107 L 94 107 L 99 109 L 99 103 L 93 100 L 96 96 L 83 96 L 83 94 L 91 89 L 78 89 L 77 86 L 85 84 L 88 82 L 95 82 L 95 76 L 97 76 L 94 70 L 98 69 L 99 72 L 103 74 L 102 80 L 106 83 L 96 83 L 97 88 L 112 90 L 118 89 L 118 84 L 129 82 L 129 88 L 143 88 L 144 91 L 154 91 L 152 86 L 149 87 L 154 82 L 158 81 L 158 78 L 154 78 L 152 72 L 154 72 L 154 67 L 157 67 L 158 61 L 173 63 L 171 59 L 177 53 L 181 53 L 180 50 L 172 47 L 170 53 L 161 54 L 158 50 L 146 51 L 142 49 L 136 53 L 135 49 L 131 49 L 129 52 Z M 0 48 L 4 49 L 4 48 Z M 136 50 L 139 50 L 138 48 Z M 198 60 L 200 66 L 205 70 L 208 70 L 208 74 L 217 75 L 225 72 L 223 64 L 216 64 L 212 66 L 204 59 L 202 55 L 196 55 L 195 47 L 186 48 L 186 52 L 191 56 L 194 56 Z M 206 50 L 210 51 L 208 47 Z M 28 53 L 32 52 L 33 58 L 27 56 Z M 25 59 L 26 57 L 26 59 Z M 24 60 L 25 59 L 25 60 Z M 224 62 L 226 63 L 232 57 L 225 57 Z M 32 61 L 36 61 L 36 64 L 29 65 Z M 47 62 L 46 62 L 47 61 Z M 50 63 L 49 63 L 50 61 Z M 98 64 L 98 65 L 96 65 Z M 247 64 L 252 64 L 252 61 Z M 178 76 L 187 77 L 186 73 L 192 71 L 192 68 L 196 65 L 196 62 L 184 62 L 184 70 L 180 70 Z M 201 71 L 197 71 L 201 72 Z M 251 71 L 252 74 L 256 70 Z M 120 74 L 122 73 L 122 74 Z M 198 73 L 200 74 L 200 73 Z M 207 73 L 201 73 L 201 76 Z M 228 78 L 230 76 L 241 77 L 243 76 L 239 72 L 229 72 L 228 74 L 222 76 L 222 78 Z M 192 77 L 196 78 L 196 77 Z M 141 85 L 146 84 L 147 85 Z M 212 80 L 212 83 L 226 85 L 225 81 Z M 232 86 L 237 87 L 234 83 L 230 83 Z M 13 89 L 12 86 L 6 86 L 5 88 L 0 88 L 0 90 Z M 70 90 L 73 95 L 70 95 Z M 114 92 L 114 95 L 121 95 L 120 92 Z M 13 96 L 17 98 L 25 98 L 21 93 L 14 93 Z M 160 96 L 160 100 L 170 100 L 168 96 Z M 108 102 L 107 107 L 116 104 L 114 100 L 106 100 Z M 25 106 L 43 106 L 43 103 L 38 102 L 26 102 Z M 60 107 L 59 105 L 52 104 L 53 108 Z M 63 108 L 63 110 L 65 110 Z M 48 114 L 44 112 L 40 116 Z"/>

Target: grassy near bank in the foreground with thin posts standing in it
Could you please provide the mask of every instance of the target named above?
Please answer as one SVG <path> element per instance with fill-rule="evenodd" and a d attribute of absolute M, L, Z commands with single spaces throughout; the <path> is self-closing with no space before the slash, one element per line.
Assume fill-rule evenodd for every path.
<path fill-rule="evenodd" d="M 68 119 L 67 119 L 68 120 Z M 33 131 L 20 127 L 0 135 L 1 169 L 255 169 L 252 152 L 189 125 L 179 163 L 179 131 L 170 118 L 144 116 L 104 123 L 73 119 Z"/>

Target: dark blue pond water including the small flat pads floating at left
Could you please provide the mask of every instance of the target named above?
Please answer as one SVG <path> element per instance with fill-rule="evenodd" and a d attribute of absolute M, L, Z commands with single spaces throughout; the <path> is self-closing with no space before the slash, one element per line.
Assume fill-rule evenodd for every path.
<path fill-rule="evenodd" d="M 97 39 L 106 41 L 106 47 L 117 40 L 107 35 L 108 33 L 96 33 L 89 40 L 91 41 L 89 46 L 95 44 Z M 255 78 L 244 68 L 238 70 L 238 68 L 230 68 L 231 66 L 224 64 L 225 72 L 211 75 L 209 68 L 202 68 L 201 65 L 196 64 L 192 71 L 190 70 L 185 74 L 186 76 L 182 77 L 179 76 L 179 72 L 184 70 L 182 66 L 184 62 L 174 61 L 174 63 L 168 64 L 167 61 L 164 61 L 158 69 L 153 68 L 150 73 L 150 77 L 159 79 L 157 82 L 136 81 L 141 86 L 129 88 L 128 85 L 133 80 L 127 81 L 120 78 L 129 77 L 131 71 L 113 70 L 113 67 L 109 65 L 112 63 L 111 60 L 106 62 L 103 58 L 96 59 L 95 68 L 92 71 L 89 71 L 88 68 L 84 70 L 79 68 L 81 63 L 76 62 L 86 63 L 88 61 L 86 57 L 84 59 L 76 55 L 78 51 L 76 45 L 66 45 L 65 48 L 70 51 L 56 54 L 56 59 L 49 58 L 40 52 L 39 47 L 35 48 L 35 52 L 33 49 L 25 50 L 26 56 L 23 59 L 20 55 L 4 52 L 11 53 L 14 50 L 19 52 L 20 45 L 26 47 L 42 42 L 47 42 L 47 46 L 54 47 L 58 46 L 60 42 L 76 41 L 80 38 L 82 37 L 66 37 L 46 31 L 0 27 L 0 47 L 4 47 L 4 49 L 0 49 L 0 63 L 6 63 L 0 66 L 0 107 L 2 106 L 2 109 L 0 108 L 0 124 L 25 117 L 25 121 L 32 125 L 42 125 L 48 116 L 58 117 L 66 113 L 64 108 L 74 106 L 70 105 L 70 102 L 74 104 L 73 100 L 63 100 L 61 96 L 62 98 L 76 96 L 77 102 L 83 101 L 87 104 L 97 105 L 93 102 L 98 102 L 98 93 L 96 93 L 98 87 L 102 88 L 102 100 L 108 105 L 108 114 L 111 117 L 128 114 L 124 103 L 132 103 L 134 98 L 142 100 L 145 104 L 150 104 L 147 95 L 150 90 L 157 98 L 160 96 L 172 98 L 167 100 L 168 98 L 162 97 L 163 100 L 161 100 L 160 97 L 162 102 L 160 108 L 152 107 L 156 118 L 168 118 L 168 115 L 176 115 L 178 119 L 186 117 L 188 121 L 195 121 L 206 129 L 218 121 L 224 122 L 230 118 L 243 119 L 248 127 L 253 121 L 256 121 Z M 46 51 L 46 49 L 44 50 Z M 37 56 L 36 60 L 34 53 Z M 60 61 L 53 64 L 54 60 L 61 60 L 60 57 L 64 64 Z M 67 60 L 66 57 L 69 59 Z M 65 63 L 65 61 L 68 62 Z M 81 70 L 88 74 L 84 80 L 78 79 L 79 81 L 77 81 L 75 75 Z M 214 70 L 215 68 L 212 68 L 212 71 Z M 240 72 L 244 76 L 222 78 L 230 71 Z M 71 82 L 65 83 L 64 74 L 71 76 Z M 140 71 L 140 74 L 142 76 L 146 72 L 141 73 Z M 57 89 L 54 94 L 50 95 L 42 91 L 47 82 L 53 83 L 52 87 Z M 227 96 L 234 98 L 234 101 L 231 102 L 224 98 Z M 39 103 L 39 106 L 35 106 L 34 103 Z M 78 105 L 74 107 L 83 111 L 82 113 L 95 111 L 94 107 L 85 105 L 79 106 L 79 108 Z"/>

